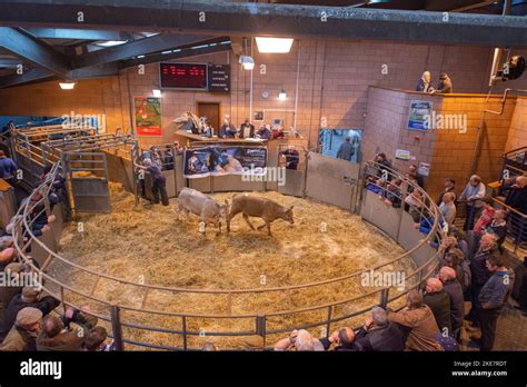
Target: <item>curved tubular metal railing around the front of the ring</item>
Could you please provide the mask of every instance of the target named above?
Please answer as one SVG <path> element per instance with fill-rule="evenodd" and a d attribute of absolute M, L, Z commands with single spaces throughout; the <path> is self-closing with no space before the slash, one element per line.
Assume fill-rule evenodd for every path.
<path fill-rule="evenodd" d="M 376 168 L 377 166 L 370 165 L 369 168 Z M 299 328 L 314 328 L 314 327 L 322 327 L 326 330 L 326 335 L 329 335 L 330 327 L 332 324 L 349 320 L 352 318 L 357 318 L 359 316 L 364 316 L 366 312 L 370 310 L 370 308 L 375 305 L 380 306 L 389 306 L 399 301 L 407 291 L 411 288 L 420 287 L 427 278 L 432 276 L 439 266 L 438 254 L 432 254 L 422 265 L 418 268 L 410 270 L 406 278 L 410 280 L 411 286 L 407 287 L 404 290 L 396 291 L 397 289 L 390 287 L 380 287 L 375 288 L 366 294 L 361 294 L 355 297 L 340 299 L 337 301 L 330 302 L 322 302 L 319 305 L 307 305 L 300 308 L 277 308 L 277 310 L 270 312 L 243 312 L 243 314 L 233 314 L 232 312 L 232 304 L 233 298 L 238 296 L 250 296 L 257 294 L 271 294 L 278 292 L 286 300 L 285 305 L 289 305 L 291 299 L 292 291 L 299 291 L 302 289 L 312 290 L 317 287 L 324 287 L 328 285 L 339 284 L 340 286 L 346 286 L 345 281 L 349 279 L 357 279 L 361 274 L 370 271 L 370 270 L 379 270 L 396 262 L 406 262 L 406 259 L 409 259 L 411 254 L 415 252 L 417 249 L 421 248 L 431 239 L 441 239 L 444 236 L 444 230 L 439 227 L 439 212 L 438 208 L 434 204 L 428 195 L 420 188 L 415 186 L 411 181 L 406 179 L 404 176 L 398 175 L 395 171 L 388 171 L 391 173 L 394 178 L 401 179 L 407 187 L 411 187 L 414 190 L 421 191 L 424 197 L 424 207 L 422 211 L 426 211 L 426 215 L 430 215 L 434 217 L 434 221 L 430 222 L 430 232 L 422 237 L 422 239 L 415 246 L 414 248 L 409 249 L 408 251 L 404 252 L 402 255 L 390 259 L 387 262 L 376 265 L 374 267 L 369 267 L 368 269 L 357 270 L 351 274 L 346 274 L 340 277 L 336 278 L 328 278 L 325 280 L 314 281 L 309 284 L 298 284 L 298 285 L 289 285 L 289 286 L 278 286 L 278 287 L 259 287 L 259 288 L 245 288 L 245 289 L 198 289 L 198 288 L 186 288 L 186 287 L 168 287 L 168 286 L 160 286 L 153 284 L 145 284 L 145 282 L 133 282 L 130 280 L 126 280 L 123 278 L 119 278 L 116 276 L 106 275 L 102 272 L 98 272 L 96 270 L 89 269 L 81 265 L 73 262 L 70 259 L 67 259 L 51 248 L 49 248 L 42 240 L 37 238 L 32 231 L 32 222 L 36 218 L 36 215 L 32 214 L 38 206 L 44 207 L 44 211 L 47 215 L 51 214 L 51 209 L 48 202 L 48 194 L 51 189 L 51 183 L 56 179 L 59 173 L 58 163 L 53 167 L 52 171 L 47 176 L 44 181 L 36 189 L 36 191 L 41 191 L 43 197 L 40 200 L 34 202 L 27 201 L 21 208 L 19 209 L 18 215 L 21 215 L 19 220 L 16 224 L 14 231 L 13 231 L 13 239 L 14 239 L 14 247 L 19 254 L 19 259 L 26 261 L 31 270 L 37 271 L 43 278 L 42 287 L 43 289 L 50 294 L 51 296 L 59 299 L 63 306 L 71 306 L 74 308 L 80 308 L 81 305 L 92 304 L 100 306 L 105 312 L 90 312 L 93 316 L 98 317 L 102 321 L 107 321 L 111 324 L 112 327 L 112 337 L 115 338 L 115 344 L 117 349 L 123 349 L 125 344 L 141 347 L 141 348 L 152 348 L 152 349 L 169 349 L 169 350 L 187 350 L 191 349 L 188 339 L 192 336 L 201 336 L 201 330 L 196 330 L 190 327 L 189 321 L 192 319 L 200 319 L 206 321 L 212 320 L 247 320 L 248 325 L 252 325 L 252 328 L 245 329 L 245 330 L 213 330 L 207 331 L 206 336 L 220 336 L 220 337 L 236 337 L 236 336 L 248 336 L 248 335 L 260 335 L 266 339 L 269 335 L 278 335 L 278 334 L 286 334 L 292 329 Z M 40 211 L 42 214 L 42 211 Z M 24 238 L 26 237 L 26 241 Z M 34 244 L 36 246 L 40 247 L 46 251 L 47 258 L 41 265 L 39 269 L 36 265 L 32 264 L 31 257 L 26 252 L 27 248 Z M 92 278 L 91 289 L 82 289 L 80 287 L 69 285 L 63 282 L 61 279 L 56 278 L 56 276 L 50 275 L 48 269 L 50 265 L 56 262 L 61 262 L 66 265 L 66 268 L 69 272 L 77 270 L 84 275 L 88 275 Z M 125 285 L 130 286 L 133 289 L 133 294 L 142 295 L 142 300 L 140 306 L 130 306 L 123 302 L 116 304 L 106 297 L 98 297 L 96 296 L 97 287 L 101 280 L 110 281 L 112 285 Z M 408 282 L 408 284 L 410 284 Z M 216 314 L 202 314 L 202 312 L 192 312 L 192 311 L 170 311 L 170 310 L 161 310 L 158 305 L 155 307 L 148 307 L 148 297 L 152 291 L 162 291 L 166 294 L 166 297 L 170 297 L 171 295 L 181 295 L 181 294 L 201 294 L 201 295 L 210 295 L 210 296 L 218 296 L 221 295 L 226 298 L 225 304 L 222 305 L 223 312 L 216 312 Z M 66 295 L 72 295 L 74 297 L 67 298 Z M 77 299 L 77 300 L 76 300 Z M 79 301 L 79 299 L 81 301 Z M 361 307 L 359 310 L 345 310 L 340 315 L 337 314 L 337 309 L 339 307 L 349 308 L 350 306 L 362 305 L 366 302 L 366 307 Z M 325 316 L 324 319 L 316 319 L 311 322 L 302 322 L 302 324 L 291 324 L 291 322 L 282 322 L 279 324 L 276 328 L 268 328 L 268 324 L 276 325 L 276 320 L 286 320 L 287 317 L 295 317 L 300 318 L 302 314 L 307 312 L 317 312 L 322 314 Z M 141 324 L 140 321 L 129 320 L 129 315 L 139 314 L 139 315 L 147 315 L 150 320 L 153 317 L 171 317 L 176 318 L 180 321 L 180 329 L 175 328 L 166 328 L 160 326 L 151 326 Z M 252 321 L 252 322 L 250 322 Z M 125 337 L 123 328 L 127 329 L 135 329 L 141 333 L 155 331 L 155 333 L 162 333 L 169 335 L 177 335 L 181 339 L 181 345 L 179 346 L 169 346 L 169 345 L 160 345 L 156 343 L 149 341 L 139 341 L 132 338 Z"/>

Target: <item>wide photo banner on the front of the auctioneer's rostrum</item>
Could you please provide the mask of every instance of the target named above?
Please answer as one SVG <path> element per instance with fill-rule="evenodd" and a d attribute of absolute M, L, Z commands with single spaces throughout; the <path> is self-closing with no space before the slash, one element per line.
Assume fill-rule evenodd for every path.
<path fill-rule="evenodd" d="M 266 147 L 208 146 L 185 150 L 186 178 L 221 175 L 266 175 Z"/>

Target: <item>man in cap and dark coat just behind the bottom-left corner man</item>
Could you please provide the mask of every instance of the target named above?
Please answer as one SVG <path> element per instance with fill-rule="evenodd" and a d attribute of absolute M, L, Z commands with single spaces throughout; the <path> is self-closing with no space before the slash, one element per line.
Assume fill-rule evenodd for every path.
<path fill-rule="evenodd" d="M 41 290 L 32 286 L 24 286 L 22 292 L 11 299 L 6 310 L 6 317 L 3 321 L 0 321 L 0 340 L 6 338 L 17 319 L 17 314 L 23 308 L 37 308 L 43 315 L 47 315 L 59 305 L 58 299 L 51 296 L 41 297 Z"/>

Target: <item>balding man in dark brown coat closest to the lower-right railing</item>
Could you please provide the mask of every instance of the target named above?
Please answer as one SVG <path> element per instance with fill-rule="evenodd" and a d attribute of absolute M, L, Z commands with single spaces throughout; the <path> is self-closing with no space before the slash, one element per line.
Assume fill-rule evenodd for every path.
<path fill-rule="evenodd" d="M 426 281 L 426 294 L 422 297 L 422 302 L 431 309 L 439 330 L 453 336 L 450 297 L 448 297 L 443 288 L 443 282 L 438 278 L 428 278 Z"/>

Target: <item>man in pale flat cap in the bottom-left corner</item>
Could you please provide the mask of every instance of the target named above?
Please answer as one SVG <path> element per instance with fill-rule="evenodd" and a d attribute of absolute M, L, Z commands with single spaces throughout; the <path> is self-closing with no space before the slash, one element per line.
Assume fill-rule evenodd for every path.
<path fill-rule="evenodd" d="M 22 308 L 17 314 L 14 326 L 0 344 L 0 351 L 36 350 L 36 339 L 40 333 L 42 311 L 37 308 Z"/>

